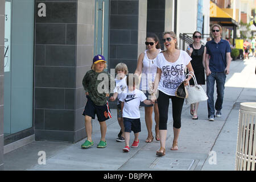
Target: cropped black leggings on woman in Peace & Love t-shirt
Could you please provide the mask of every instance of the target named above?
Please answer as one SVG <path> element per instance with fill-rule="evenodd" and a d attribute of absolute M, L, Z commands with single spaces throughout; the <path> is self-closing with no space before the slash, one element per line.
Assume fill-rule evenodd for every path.
<path fill-rule="evenodd" d="M 158 110 L 159 110 L 159 130 L 167 130 L 168 109 L 172 100 L 172 118 L 174 119 L 174 127 L 180 129 L 181 127 L 181 112 L 184 103 L 184 98 L 176 96 L 168 96 L 159 90 L 158 96 Z"/>

